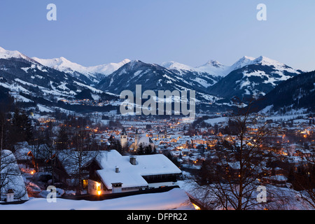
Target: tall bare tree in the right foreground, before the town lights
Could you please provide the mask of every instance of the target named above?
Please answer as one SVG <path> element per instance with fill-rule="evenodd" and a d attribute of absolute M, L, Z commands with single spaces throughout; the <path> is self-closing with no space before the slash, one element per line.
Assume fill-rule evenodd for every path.
<path fill-rule="evenodd" d="M 208 183 L 201 187 L 212 208 L 245 210 L 257 204 L 256 191 L 266 164 L 266 138 L 275 133 L 251 113 L 252 102 L 230 116 L 230 133 L 218 138 L 216 162 L 208 163 Z M 197 190 L 197 189 L 196 189 Z"/>

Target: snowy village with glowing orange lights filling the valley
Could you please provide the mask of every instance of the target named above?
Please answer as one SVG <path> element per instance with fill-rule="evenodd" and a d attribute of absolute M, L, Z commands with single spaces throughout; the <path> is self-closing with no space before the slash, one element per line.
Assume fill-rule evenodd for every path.
<path fill-rule="evenodd" d="M 69 200 L 162 193 L 185 189 L 183 183 L 192 180 L 203 186 L 211 183 L 210 179 L 214 181 L 214 173 L 209 169 L 205 172 L 209 164 L 224 167 L 230 177 L 240 175 L 235 158 L 223 164 L 218 154 L 227 151 L 221 141 L 239 144 L 235 124 L 221 114 L 200 116 L 195 123 L 178 117 L 143 119 L 98 113 L 64 120 L 55 117 L 32 118 L 36 129 L 49 141 L 39 141 L 38 137 L 15 144 L 13 154 L 25 192 L 22 183 L 20 191 L 6 186 L 1 201 L 46 197 L 48 186 L 55 186 L 58 197 Z M 315 154 L 314 118 L 260 118 L 255 125 L 248 123 L 248 133 L 255 136 L 257 125 L 277 127 L 276 134 L 260 142 L 261 152 L 255 158 L 262 163 L 256 168 L 260 185 L 298 188 L 292 175 L 307 167 Z M 248 145 L 256 140 L 248 140 Z M 190 190 L 186 193 L 195 208 L 204 205 Z"/>

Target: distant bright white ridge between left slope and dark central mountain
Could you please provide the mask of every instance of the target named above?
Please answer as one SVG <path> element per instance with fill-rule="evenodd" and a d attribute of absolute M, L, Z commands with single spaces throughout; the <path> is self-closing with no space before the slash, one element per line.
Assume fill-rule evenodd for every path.
<path fill-rule="evenodd" d="M 83 66 L 71 62 L 64 57 L 53 59 L 40 59 L 38 57 L 32 57 L 32 59 L 43 64 L 44 66 L 48 66 L 52 69 L 69 73 L 76 78 L 82 78 L 82 75 L 84 75 L 90 81 L 92 81 L 92 83 L 98 83 L 99 80 L 102 80 L 102 78 L 104 78 L 104 76 L 109 76 L 109 74 L 113 73 L 124 64 L 130 62 L 130 59 L 124 59 L 122 62 L 118 63 L 101 64 L 98 66 Z"/>

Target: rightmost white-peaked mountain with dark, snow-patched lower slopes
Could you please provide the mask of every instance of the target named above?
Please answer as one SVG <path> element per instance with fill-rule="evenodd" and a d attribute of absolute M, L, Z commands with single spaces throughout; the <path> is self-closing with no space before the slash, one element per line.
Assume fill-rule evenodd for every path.
<path fill-rule="evenodd" d="M 231 67 L 234 70 L 228 76 L 208 88 L 210 94 L 228 99 L 259 97 L 284 80 L 302 73 L 301 70 L 262 56 L 255 59 L 242 57 Z"/>

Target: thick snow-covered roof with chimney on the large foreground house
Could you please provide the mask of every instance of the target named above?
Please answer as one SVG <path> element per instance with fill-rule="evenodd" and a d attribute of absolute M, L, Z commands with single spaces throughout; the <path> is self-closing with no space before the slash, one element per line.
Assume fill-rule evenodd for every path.
<path fill-rule="evenodd" d="M 123 183 L 123 188 L 148 186 L 143 176 L 159 174 L 181 174 L 181 169 L 176 167 L 165 155 L 137 155 L 137 165 L 130 163 L 130 156 L 120 155 L 115 150 L 104 151 L 97 157 L 97 162 L 102 168 L 97 170 L 99 178 L 107 189 L 111 183 Z M 119 172 L 116 173 L 116 167 Z"/>

